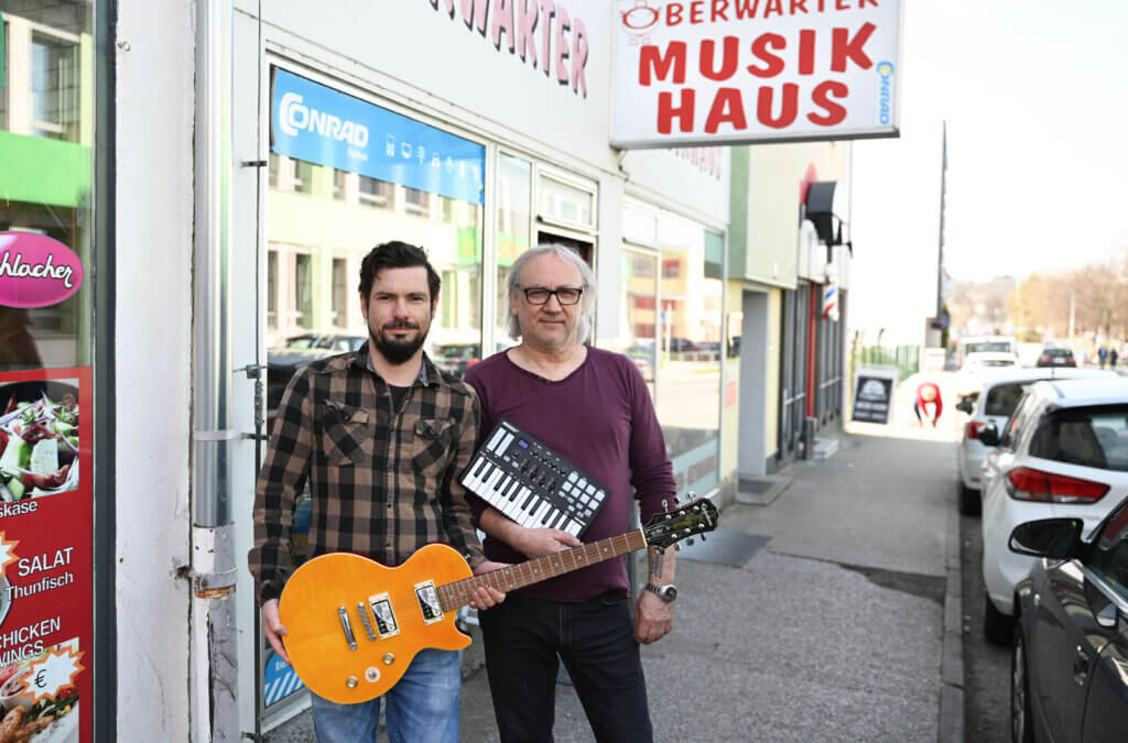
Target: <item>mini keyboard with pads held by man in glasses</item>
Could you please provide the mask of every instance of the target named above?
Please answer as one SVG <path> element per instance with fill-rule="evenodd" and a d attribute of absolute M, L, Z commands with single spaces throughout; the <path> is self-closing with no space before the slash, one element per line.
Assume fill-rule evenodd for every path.
<path fill-rule="evenodd" d="M 490 434 L 462 472 L 467 490 L 530 529 L 581 537 L 608 490 L 509 421 Z"/>

